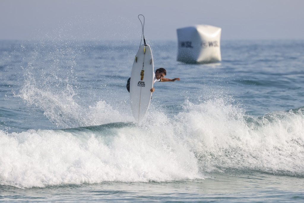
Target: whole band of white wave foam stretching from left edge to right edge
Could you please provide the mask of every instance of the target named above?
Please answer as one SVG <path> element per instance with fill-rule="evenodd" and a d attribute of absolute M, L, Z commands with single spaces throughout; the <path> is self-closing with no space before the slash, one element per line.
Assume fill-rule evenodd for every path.
<path fill-rule="evenodd" d="M 109 108 L 102 102 L 98 105 Z M 108 115 L 112 120 L 116 116 Z M 304 174 L 301 108 L 255 118 L 230 101 L 213 99 L 186 102 L 171 119 L 151 111 L 140 125 L 110 128 L 1 131 L 0 183 L 44 187 L 174 181 L 226 169 Z"/>

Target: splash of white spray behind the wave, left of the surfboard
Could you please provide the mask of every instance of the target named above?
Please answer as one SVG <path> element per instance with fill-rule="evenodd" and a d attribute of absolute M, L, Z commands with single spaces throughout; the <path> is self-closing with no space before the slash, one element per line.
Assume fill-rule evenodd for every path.
<path fill-rule="evenodd" d="M 29 76 L 18 96 L 27 104 L 39 107 L 52 123 L 62 128 L 132 120 L 129 114 L 120 113 L 102 100 L 89 107 L 79 105 L 74 99 L 74 89 L 69 84 L 55 92 L 54 88 L 41 88 L 41 85 L 37 85 L 36 80 Z"/>

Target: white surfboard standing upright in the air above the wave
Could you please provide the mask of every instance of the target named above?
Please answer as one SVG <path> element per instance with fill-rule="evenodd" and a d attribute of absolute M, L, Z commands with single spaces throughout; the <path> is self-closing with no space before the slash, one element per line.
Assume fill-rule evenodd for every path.
<path fill-rule="evenodd" d="M 130 80 L 131 109 L 136 122 L 140 122 L 150 105 L 154 65 L 149 45 L 141 45 L 134 59 Z"/>

